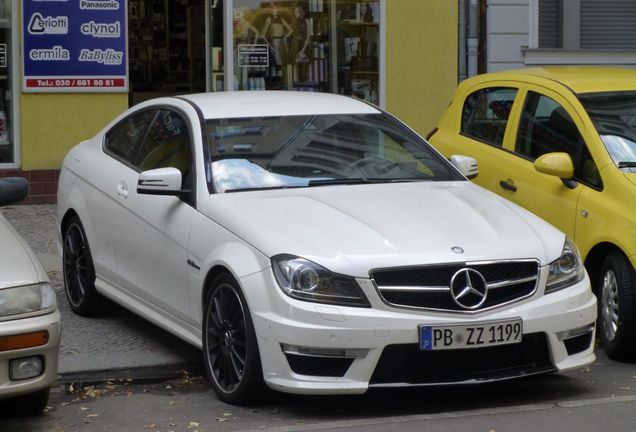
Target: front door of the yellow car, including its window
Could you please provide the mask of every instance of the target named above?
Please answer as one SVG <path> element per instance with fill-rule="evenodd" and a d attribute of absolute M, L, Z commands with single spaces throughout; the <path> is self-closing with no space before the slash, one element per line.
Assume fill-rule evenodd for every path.
<path fill-rule="evenodd" d="M 495 191 L 574 238 L 579 194 L 600 182 L 583 138 L 583 121 L 571 103 L 550 89 L 528 85 L 519 96 L 523 105 L 508 128 L 507 157 Z M 570 157 L 572 178 L 536 169 L 539 157 L 554 152 Z"/>

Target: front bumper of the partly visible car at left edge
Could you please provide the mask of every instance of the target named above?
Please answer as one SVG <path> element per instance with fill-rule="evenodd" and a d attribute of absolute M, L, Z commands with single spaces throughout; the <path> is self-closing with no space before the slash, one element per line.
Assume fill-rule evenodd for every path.
<path fill-rule="evenodd" d="M 44 345 L 0 351 L 0 398 L 36 392 L 50 386 L 57 379 L 61 330 L 58 309 L 46 315 L 0 322 L 0 337 L 40 331 L 47 331 L 49 335 L 48 342 Z M 33 378 L 12 380 L 9 371 L 11 360 L 27 357 L 39 357 L 42 360 L 42 373 Z"/>

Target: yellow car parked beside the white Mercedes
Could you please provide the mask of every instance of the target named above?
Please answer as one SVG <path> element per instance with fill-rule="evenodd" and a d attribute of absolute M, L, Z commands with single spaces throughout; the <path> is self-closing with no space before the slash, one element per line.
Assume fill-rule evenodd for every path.
<path fill-rule="evenodd" d="M 636 358 L 636 70 L 526 68 L 463 81 L 428 136 L 475 182 L 574 239 L 607 354 Z"/>

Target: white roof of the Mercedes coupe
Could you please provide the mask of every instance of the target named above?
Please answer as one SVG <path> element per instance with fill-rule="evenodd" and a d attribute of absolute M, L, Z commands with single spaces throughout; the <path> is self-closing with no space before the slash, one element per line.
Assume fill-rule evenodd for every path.
<path fill-rule="evenodd" d="M 300 91 L 230 91 L 183 95 L 206 119 L 283 115 L 377 114 L 373 105 L 348 96 Z"/>

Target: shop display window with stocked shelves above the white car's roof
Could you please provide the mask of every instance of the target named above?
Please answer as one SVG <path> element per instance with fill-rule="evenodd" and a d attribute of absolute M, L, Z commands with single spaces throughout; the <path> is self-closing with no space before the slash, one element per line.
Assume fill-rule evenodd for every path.
<path fill-rule="evenodd" d="M 211 90 L 332 92 L 379 103 L 379 1 L 234 0 L 226 13 L 233 73 L 224 76 L 217 40 Z M 218 15 L 210 21 L 213 33 L 223 22 Z M 231 86 L 220 81 L 228 78 Z"/>

